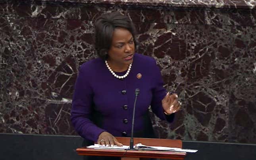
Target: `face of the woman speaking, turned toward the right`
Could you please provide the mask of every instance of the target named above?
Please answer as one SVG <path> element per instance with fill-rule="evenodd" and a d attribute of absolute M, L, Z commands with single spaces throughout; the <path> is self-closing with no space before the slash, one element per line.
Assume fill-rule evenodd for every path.
<path fill-rule="evenodd" d="M 135 45 L 131 32 L 124 28 L 115 28 L 108 51 L 108 61 L 113 65 L 129 65 L 133 62 L 134 51 Z"/>

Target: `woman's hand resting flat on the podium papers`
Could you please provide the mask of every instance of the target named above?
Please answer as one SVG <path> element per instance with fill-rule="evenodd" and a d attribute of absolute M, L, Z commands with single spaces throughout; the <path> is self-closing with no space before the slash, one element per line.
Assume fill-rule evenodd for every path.
<path fill-rule="evenodd" d="M 114 147 L 114 145 L 117 145 L 120 147 L 123 146 L 123 144 L 119 143 L 112 134 L 106 131 L 100 133 L 97 143 L 98 145 L 106 145 L 107 147 L 108 146 Z"/>

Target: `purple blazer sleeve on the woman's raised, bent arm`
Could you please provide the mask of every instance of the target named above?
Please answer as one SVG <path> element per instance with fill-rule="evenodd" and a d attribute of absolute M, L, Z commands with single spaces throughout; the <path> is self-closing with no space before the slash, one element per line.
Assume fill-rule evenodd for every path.
<path fill-rule="evenodd" d="M 164 82 L 162 80 L 162 75 L 159 67 L 156 65 L 156 61 L 154 60 L 152 71 L 154 74 L 153 80 L 153 89 L 152 89 L 152 101 L 151 101 L 151 109 L 152 111 L 160 118 L 161 120 L 167 120 L 168 122 L 173 122 L 174 113 L 171 115 L 164 114 L 164 109 L 162 107 L 162 99 L 167 94 L 166 89 L 163 87 Z"/>

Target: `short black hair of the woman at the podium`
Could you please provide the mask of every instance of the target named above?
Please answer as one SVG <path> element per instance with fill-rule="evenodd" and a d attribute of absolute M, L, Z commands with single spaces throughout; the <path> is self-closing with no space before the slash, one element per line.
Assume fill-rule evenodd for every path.
<path fill-rule="evenodd" d="M 100 15 L 94 23 L 95 50 L 99 57 L 106 60 L 108 58 L 108 50 L 112 44 L 112 35 L 117 27 L 129 30 L 133 36 L 135 48 L 137 41 L 135 40 L 136 29 L 128 16 L 122 15 L 115 11 Z"/>

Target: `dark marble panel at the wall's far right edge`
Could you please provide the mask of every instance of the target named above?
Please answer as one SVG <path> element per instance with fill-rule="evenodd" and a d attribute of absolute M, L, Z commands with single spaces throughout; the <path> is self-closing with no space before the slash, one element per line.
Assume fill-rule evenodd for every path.
<path fill-rule="evenodd" d="M 232 27 L 229 139 L 256 143 L 256 27 Z"/>

